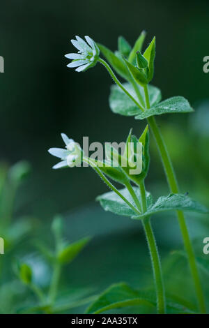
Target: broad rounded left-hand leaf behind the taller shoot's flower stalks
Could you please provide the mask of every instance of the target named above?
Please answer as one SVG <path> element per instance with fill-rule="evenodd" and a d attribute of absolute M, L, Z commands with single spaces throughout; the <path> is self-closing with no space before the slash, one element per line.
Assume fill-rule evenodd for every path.
<path fill-rule="evenodd" d="M 128 92 L 138 101 L 137 94 L 135 93 L 132 85 L 130 83 L 124 83 L 123 87 L 127 89 Z M 141 86 L 139 87 L 139 91 L 144 98 L 144 89 Z M 161 92 L 157 87 L 153 87 L 152 85 L 148 85 L 148 93 L 150 97 L 150 105 L 154 106 L 161 100 Z M 145 98 L 144 98 L 145 101 Z M 111 86 L 111 93 L 109 96 L 109 106 L 111 110 L 116 114 L 121 114 L 125 116 L 133 116 L 139 113 L 143 114 L 139 107 L 119 88 L 117 85 Z"/>

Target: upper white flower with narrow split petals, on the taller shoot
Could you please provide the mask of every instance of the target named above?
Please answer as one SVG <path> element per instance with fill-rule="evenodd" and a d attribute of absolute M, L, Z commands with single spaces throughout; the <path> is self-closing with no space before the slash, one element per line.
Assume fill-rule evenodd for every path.
<path fill-rule="evenodd" d="M 82 72 L 95 66 L 100 55 L 98 45 L 89 36 L 85 36 L 85 38 L 87 43 L 79 36 L 76 36 L 77 40 L 71 40 L 72 45 L 79 50 L 77 54 L 65 54 L 66 58 L 72 59 L 67 66 L 70 68 L 77 67 L 77 72 Z"/>

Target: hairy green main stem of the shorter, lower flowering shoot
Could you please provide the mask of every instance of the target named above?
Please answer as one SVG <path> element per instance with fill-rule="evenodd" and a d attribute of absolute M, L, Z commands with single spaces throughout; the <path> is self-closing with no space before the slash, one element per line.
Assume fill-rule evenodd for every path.
<path fill-rule="evenodd" d="M 146 212 L 147 204 L 146 204 L 146 191 L 144 187 L 144 181 L 141 181 L 139 184 L 139 188 L 141 191 L 141 204 L 143 212 Z M 146 234 L 146 240 L 148 242 L 148 248 L 150 251 L 150 258 L 153 266 L 153 276 L 155 281 L 155 289 L 157 295 L 157 311 L 160 314 L 166 313 L 166 305 L 165 305 L 165 295 L 164 295 L 164 285 L 162 279 L 162 270 L 160 264 L 160 256 L 157 251 L 157 244 L 155 241 L 155 236 L 153 233 L 152 226 L 150 224 L 150 218 L 144 218 L 142 221 L 144 232 Z"/>

